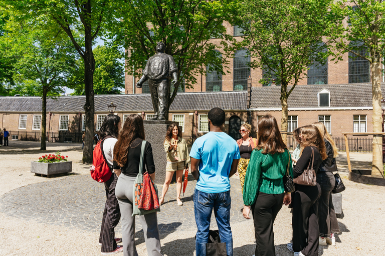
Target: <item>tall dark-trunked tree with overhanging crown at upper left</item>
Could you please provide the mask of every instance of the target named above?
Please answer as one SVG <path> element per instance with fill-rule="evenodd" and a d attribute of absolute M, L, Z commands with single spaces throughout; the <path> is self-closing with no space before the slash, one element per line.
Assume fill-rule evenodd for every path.
<path fill-rule="evenodd" d="M 99 33 L 104 32 L 105 23 L 113 20 L 115 2 L 110 0 L 0 0 L 1 5 L 23 11 L 25 15 L 38 17 L 41 13 L 55 21 L 71 39 L 74 48 L 84 60 L 84 88 L 86 102 L 85 143 L 83 162 L 92 162 L 93 134 L 95 130 L 95 100 L 93 75 L 95 58 L 92 45 Z M 113 5 L 113 6 L 112 6 Z M 81 40 L 75 37 L 79 33 Z"/>

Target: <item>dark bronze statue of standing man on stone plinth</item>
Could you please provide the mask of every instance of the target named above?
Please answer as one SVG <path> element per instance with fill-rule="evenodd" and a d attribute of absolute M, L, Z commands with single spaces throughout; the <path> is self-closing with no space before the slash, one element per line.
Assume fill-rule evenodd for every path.
<path fill-rule="evenodd" d="M 163 42 L 156 43 L 156 53 L 147 60 L 143 75 L 136 83 L 141 88 L 148 79 L 152 105 L 154 106 L 154 120 L 164 120 L 167 109 L 167 93 L 169 93 L 168 81 L 172 77 L 172 84 L 176 83 L 178 69 L 174 58 L 164 53 L 166 46 Z"/>

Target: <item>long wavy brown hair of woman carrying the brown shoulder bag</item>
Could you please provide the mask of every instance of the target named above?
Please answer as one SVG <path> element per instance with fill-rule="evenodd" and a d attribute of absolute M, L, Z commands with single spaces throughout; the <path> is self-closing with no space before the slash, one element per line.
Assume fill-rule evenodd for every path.
<path fill-rule="evenodd" d="M 301 127 L 301 136 L 305 138 L 305 140 L 302 140 L 301 142 L 301 154 L 302 150 L 306 146 L 316 146 L 319 149 L 319 152 L 321 153 L 322 160 L 326 159 L 326 147 L 325 147 L 325 141 L 323 141 L 323 137 L 321 136 L 321 133 L 319 132 L 319 129 L 314 125 L 306 125 Z"/>

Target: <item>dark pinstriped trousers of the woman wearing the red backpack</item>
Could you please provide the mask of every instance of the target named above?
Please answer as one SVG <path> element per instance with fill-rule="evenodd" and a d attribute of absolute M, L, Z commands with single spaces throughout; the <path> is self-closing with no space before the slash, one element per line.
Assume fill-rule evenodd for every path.
<path fill-rule="evenodd" d="M 118 176 L 112 173 L 109 180 L 104 182 L 106 188 L 106 204 L 104 206 L 102 227 L 100 229 L 99 242 L 102 244 L 102 252 L 110 252 L 118 246 L 115 241 L 115 226 L 120 220 L 120 209 L 115 196 L 116 182 Z"/>

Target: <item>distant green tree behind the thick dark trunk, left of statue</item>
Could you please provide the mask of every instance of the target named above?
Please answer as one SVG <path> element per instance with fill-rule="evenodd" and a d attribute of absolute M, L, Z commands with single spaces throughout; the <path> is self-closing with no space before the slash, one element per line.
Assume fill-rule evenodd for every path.
<path fill-rule="evenodd" d="M 124 88 L 124 67 L 119 61 L 121 53 L 108 46 L 96 46 L 94 48 L 95 72 L 94 92 L 95 94 L 120 94 Z M 79 59 L 77 72 L 71 77 L 74 85 L 68 87 L 75 89 L 74 95 L 83 95 L 84 91 L 84 63 Z"/>

